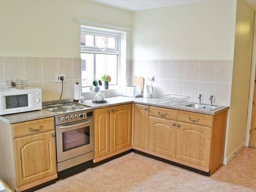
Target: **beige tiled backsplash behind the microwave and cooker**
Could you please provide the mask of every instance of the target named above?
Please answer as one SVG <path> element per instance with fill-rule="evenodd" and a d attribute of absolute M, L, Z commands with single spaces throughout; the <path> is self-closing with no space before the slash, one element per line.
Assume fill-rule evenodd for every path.
<path fill-rule="evenodd" d="M 0 57 L 0 87 L 6 80 L 28 80 L 28 86 L 42 88 L 42 100 L 58 100 L 61 83 L 55 82 L 55 74 L 66 74 L 62 98 L 73 99 L 73 84 L 81 83 L 80 58 L 48 57 Z"/>

